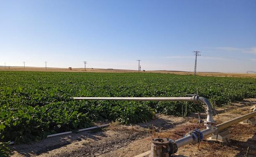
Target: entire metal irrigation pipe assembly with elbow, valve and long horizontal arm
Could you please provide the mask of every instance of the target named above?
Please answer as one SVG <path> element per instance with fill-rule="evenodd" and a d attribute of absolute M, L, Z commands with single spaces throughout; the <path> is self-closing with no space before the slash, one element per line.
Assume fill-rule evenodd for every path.
<path fill-rule="evenodd" d="M 248 119 L 250 117 L 256 116 L 256 111 L 249 113 L 247 115 L 243 115 L 241 117 L 229 120 L 227 122 L 224 122 L 222 124 L 219 124 L 216 126 L 216 122 L 213 119 L 213 108 L 210 104 L 210 102 L 208 101 L 208 99 L 206 99 L 205 97 L 199 97 L 199 95 L 192 95 L 192 97 L 73 97 L 72 99 L 75 100 L 121 100 L 121 101 L 165 101 L 165 102 L 178 102 L 178 101 L 187 101 L 187 102 L 194 102 L 194 103 L 199 103 L 199 102 L 203 102 L 206 105 L 206 114 L 207 114 L 207 120 L 204 122 L 204 124 L 206 125 L 206 129 L 202 130 L 202 131 L 195 131 L 194 133 L 200 133 L 203 137 L 214 134 L 216 135 L 218 133 L 218 131 L 223 130 L 225 128 L 228 128 L 229 126 L 232 126 L 234 124 L 237 124 L 238 122 L 241 122 L 245 119 Z M 196 136 L 196 137 L 195 137 Z M 176 141 L 173 140 L 169 140 L 169 145 L 165 145 L 165 147 L 167 146 L 168 148 L 171 148 L 171 150 L 174 150 L 173 153 L 176 153 L 177 149 L 186 145 L 186 144 L 190 144 L 190 143 L 197 143 L 200 139 L 200 137 L 198 137 L 200 135 L 192 135 L 190 132 L 190 135 L 187 135 L 181 139 L 177 139 Z M 198 138 L 199 139 L 198 139 Z M 165 140 L 165 139 L 155 139 L 156 141 L 152 142 L 151 145 L 151 151 L 145 152 L 143 154 L 141 154 L 142 156 L 149 156 L 151 154 L 151 156 L 153 155 L 153 157 L 155 155 L 157 155 L 159 152 L 162 151 L 162 147 L 158 144 L 161 145 L 160 140 Z M 159 141 L 157 141 L 159 140 Z M 166 142 L 162 141 L 162 142 Z M 168 143 L 168 141 L 167 141 Z M 159 150 L 155 150 L 156 148 Z M 153 148 L 153 150 L 152 150 Z M 169 149 L 168 149 L 169 150 Z M 137 155 L 136 157 L 141 157 L 141 155 Z"/>

